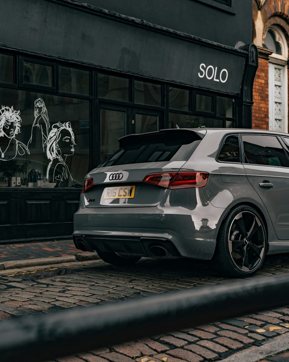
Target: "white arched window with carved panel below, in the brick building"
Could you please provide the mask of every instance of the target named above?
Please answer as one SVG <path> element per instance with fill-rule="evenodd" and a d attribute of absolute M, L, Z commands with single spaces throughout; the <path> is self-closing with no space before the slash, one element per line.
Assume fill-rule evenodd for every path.
<path fill-rule="evenodd" d="M 272 25 L 265 45 L 273 50 L 269 56 L 269 130 L 288 132 L 288 46 L 280 28 Z"/>

